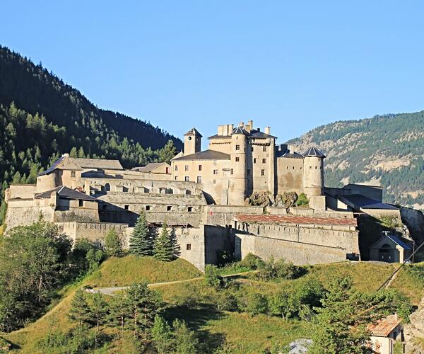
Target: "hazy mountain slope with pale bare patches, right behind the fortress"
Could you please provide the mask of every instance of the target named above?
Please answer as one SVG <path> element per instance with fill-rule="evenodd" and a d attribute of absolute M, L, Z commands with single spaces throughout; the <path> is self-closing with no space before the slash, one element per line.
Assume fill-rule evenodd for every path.
<path fill-rule="evenodd" d="M 338 121 L 288 142 L 326 154 L 325 183 L 380 183 L 384 200 L 424 209 L 424 110 Z"/>

